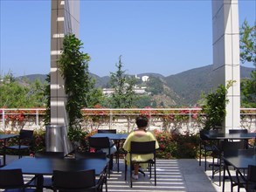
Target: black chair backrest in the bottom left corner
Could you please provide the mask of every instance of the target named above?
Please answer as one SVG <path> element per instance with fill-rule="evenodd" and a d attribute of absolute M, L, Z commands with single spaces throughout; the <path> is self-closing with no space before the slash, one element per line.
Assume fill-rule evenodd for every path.
<path fill-rule="evenodd" d="M 20 168 L 0 170 L 0 189 L 22 189 L 24 179 Z"/>

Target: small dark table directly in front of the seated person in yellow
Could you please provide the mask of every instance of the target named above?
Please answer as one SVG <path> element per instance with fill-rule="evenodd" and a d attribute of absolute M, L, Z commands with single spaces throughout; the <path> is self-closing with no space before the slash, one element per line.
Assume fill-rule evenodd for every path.
<path fill-rule="evenodd" d="M 121 141 L 125 141 L 128 137 L 128 134 L 106 134 L 106 133 L 98 133 L 93 134 L 92 137 L 108 137 L 110 140 L 113 140 L 116 144 L 116 161 L 117 161 L 117 172 L 119 172 L 119 151 L 121 147 Z"/>

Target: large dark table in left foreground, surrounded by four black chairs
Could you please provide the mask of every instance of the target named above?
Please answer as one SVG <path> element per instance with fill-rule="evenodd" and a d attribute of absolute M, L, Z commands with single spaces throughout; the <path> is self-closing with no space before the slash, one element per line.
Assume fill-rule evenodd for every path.
<path fill-rule="evenodd" d="M 80 159 L 73 158 L 53 159 L 53 158 L 34 158 L 23 157 L 17 161 L 12 161 L 10 164 L 0 169 L 21 168 L 24 175 L 41 175 L 38 178 L 38 191 L 43 190 L 42 175 L 52 175 L 53 170 L 61 171 L 81 171 L 95 169 L 95 175 L 100 175 L 106 168 L 108 159 Z"/>

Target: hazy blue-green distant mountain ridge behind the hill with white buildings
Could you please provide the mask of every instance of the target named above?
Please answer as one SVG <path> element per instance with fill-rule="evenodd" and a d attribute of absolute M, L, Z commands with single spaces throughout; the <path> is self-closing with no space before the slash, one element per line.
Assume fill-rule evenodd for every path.
<path fill-rule="evenodd" d="M 251 73 L 253 70 L 254 68 L 241 66 L 241 79 L 251 78 Z M 91 73 L 91 76 L 96 79 L 96 87 L 104 88 L 109 86 L 109 76 L 100 77 L 93 73 Z M 194 106 L 197 103 L 197 100 L 200 99 L 202 92 L 209 93 L 211 91 L 214 78 L 212 65 L 198 67 L 167 77 L 154 72 L 137 74 L 137 77 L 142 76 L 153 76 L 161 79 L 163 86 L 165 87 L 165 91 L 162 96 L 159 94 L 155 98 L 158 100 L 158 102 L 161 99 L 163 99 L 163 101 L 170 99 L 169 103 L 172 103 L 176 106 Z M 45 81 L 46 75 L 32 74 L 18 77 L 17 79 L 22 79 L 24 77 L 30 79 L 31 81 L 34 81 L 35 79 Z"/>

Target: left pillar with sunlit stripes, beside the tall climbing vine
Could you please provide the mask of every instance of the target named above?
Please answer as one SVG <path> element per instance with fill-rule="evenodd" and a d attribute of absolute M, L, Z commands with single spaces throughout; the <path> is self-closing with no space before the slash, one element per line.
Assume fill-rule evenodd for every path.
<path fill-rule="evenodd" d="M 57 60 L 63 48 L 63 38 L 68 33 L 79 35 L 80 1 L 52 0 L 51 17 L 51 124 L 63 126 L 67 135 L 68 117 L 66 113 L 65 81 L 59 73 Z M 67 137 L 64 152 L 73 150 Z"/>

